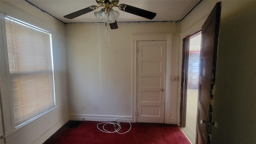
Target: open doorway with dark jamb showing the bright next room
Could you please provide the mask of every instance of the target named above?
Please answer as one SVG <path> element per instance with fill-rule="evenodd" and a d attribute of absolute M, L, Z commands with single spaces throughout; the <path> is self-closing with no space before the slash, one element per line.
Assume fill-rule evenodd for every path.
<path fill-rule="evenodd" d="M 193 144 L 196 141 L 200 48 L 201 32 L 184 38 L 180 125 Z"/>

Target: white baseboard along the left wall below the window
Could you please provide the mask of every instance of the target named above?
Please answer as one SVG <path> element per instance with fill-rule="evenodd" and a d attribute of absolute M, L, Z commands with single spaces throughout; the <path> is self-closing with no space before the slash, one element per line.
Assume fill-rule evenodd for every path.
<path fill-rule="evenodd" d="M 55 124 L 52 128 L 47 130 L 44 134 L 42 134 L 39 138 L 37 138 L 32 144 L 42 144 L 44 143 L 52 134 L 54 134 L 58 129 L 60 129 L 64 124 L 66 124 L 69 120 L 69 116 L 67 115 L 60 122 Z"/>

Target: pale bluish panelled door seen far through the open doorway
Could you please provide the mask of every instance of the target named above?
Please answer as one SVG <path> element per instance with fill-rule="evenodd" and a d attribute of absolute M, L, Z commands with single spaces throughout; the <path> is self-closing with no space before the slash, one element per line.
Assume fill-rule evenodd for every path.
<path fill-rule="evenodd" d="M 200 54 L 189 54 L 188 88 L 198 89 Z"/>

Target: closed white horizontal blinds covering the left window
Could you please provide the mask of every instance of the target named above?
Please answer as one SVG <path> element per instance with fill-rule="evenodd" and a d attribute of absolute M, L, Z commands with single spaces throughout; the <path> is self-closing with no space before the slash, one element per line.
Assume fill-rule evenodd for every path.
<path fill-rule="evenodd" d="M 15 127 L 55 106 L 51 35 L 5 18 Z"/>

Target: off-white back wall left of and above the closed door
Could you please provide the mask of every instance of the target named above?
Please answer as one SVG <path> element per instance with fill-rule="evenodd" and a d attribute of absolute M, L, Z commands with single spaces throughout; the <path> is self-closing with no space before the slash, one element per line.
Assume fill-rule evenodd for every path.
<path fill-rule="evenodd" d="M 70 119 L 132 119 L 132 34 L 174 33 L 174 25 L 118 23 L 118 29 L 109 30 L 108 42 L 104 23 L 67 24 Z M 170 108 L 175 118 L 176 107 Z"/>

